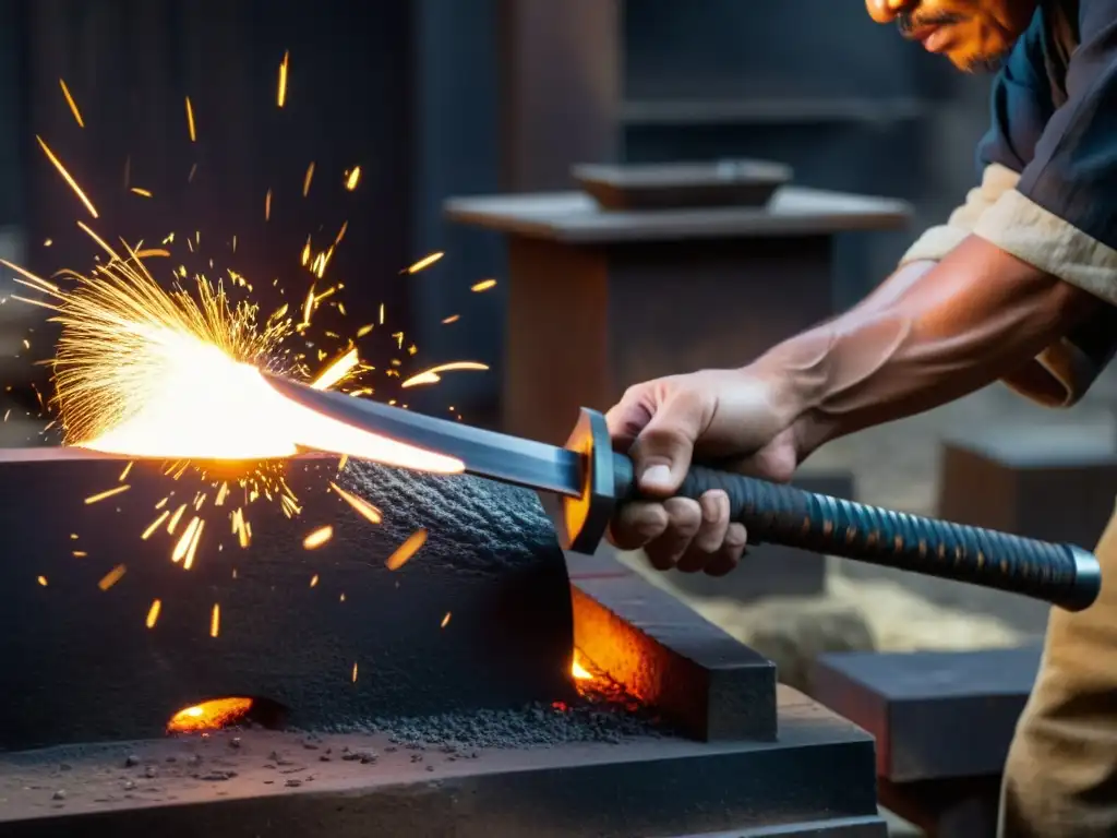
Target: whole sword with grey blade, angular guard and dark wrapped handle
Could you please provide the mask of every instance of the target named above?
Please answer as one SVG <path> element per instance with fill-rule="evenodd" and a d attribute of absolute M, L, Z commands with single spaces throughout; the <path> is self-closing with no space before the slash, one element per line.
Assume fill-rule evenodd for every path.
<path fill-rule="evenodd" d="M 351 426 L 452 456 L 480 477 L 562 498 L 555 528 L 563 549 L 592 553 L 618 504 L 639 497 L 632 460 L 613 450 L 604 417 L 583 408 L 563 447 L 422 416 L 367 399 L 269 377 L 283 396 Z M 729 496 L 731 515 L 752 543 L 772 543 L 1088 608 L 1101 588 L 1097 558 L 1051 544 L 803 492 L 694 466 L 679 495 Z"/>

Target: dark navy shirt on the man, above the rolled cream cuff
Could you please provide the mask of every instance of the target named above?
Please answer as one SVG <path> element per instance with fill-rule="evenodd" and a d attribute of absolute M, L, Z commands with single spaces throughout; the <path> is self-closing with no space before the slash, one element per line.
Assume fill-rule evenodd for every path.
<path fill-rule="evenodd" d="M 984 169 L 1117 249 L 1117 0 L 1047 0 L 999 73 Z"/>

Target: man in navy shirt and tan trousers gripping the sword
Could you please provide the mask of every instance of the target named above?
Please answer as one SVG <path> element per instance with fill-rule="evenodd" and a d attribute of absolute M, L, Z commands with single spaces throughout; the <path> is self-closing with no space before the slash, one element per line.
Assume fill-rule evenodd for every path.
<path fill-rule="evenodd" d="M 1114 354 L 1117 0 L 867 3 L 958 69 L 996 73 L 980 185 L 856 308 L 747 366 L 631 388 L 609 421 L 647 492 L 670 497 L 691 457 L 786 479 L 828 440 L 997 379 L 1069 407 Z M 727 517 L 718 493 L 632 505 L 613 539 L 723 574 L 745 545 Z M 1117 836 L 1117 523 L 1097 552 L 1098 602 L 1051 615 L 1009 755 L 1008 838 Z"/>

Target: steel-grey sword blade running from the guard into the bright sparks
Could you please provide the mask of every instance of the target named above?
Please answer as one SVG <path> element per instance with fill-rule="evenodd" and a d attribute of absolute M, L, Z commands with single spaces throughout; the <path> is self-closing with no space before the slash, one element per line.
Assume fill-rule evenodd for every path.
<path fill-rule="evenodd" d="M 514 486 L 582 495 L 582 457 L 558 446 L 471 428 L 369 399 L 315 390 L 276 375 L 268 383 L 283 397 L 323 416 L 429 451 L 456 457 L 468 474 Z"/>

